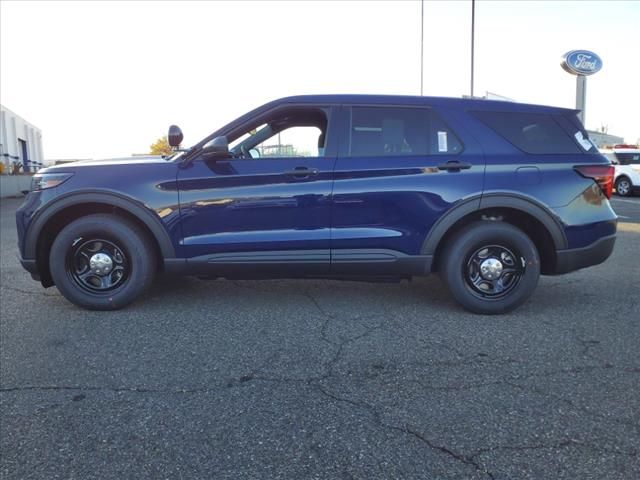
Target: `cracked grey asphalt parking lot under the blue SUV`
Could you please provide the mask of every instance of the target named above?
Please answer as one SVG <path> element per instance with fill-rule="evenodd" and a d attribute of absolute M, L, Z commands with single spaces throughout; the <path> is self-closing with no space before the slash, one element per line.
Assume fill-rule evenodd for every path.
<path fill-rule="evenodd" d="M 509 315 L 411 283 L 160 279 L 87 312 L 1 203 L 0 477 L 640 478 L 640 198 Z"/>

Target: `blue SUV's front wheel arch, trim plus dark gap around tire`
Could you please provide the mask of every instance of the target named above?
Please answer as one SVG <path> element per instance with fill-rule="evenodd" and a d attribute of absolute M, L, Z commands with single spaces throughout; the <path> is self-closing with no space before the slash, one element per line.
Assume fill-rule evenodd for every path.
<path fill-rule="evenodd" d="M 48 258 L 56 235 L 70 222 L 93 213 L 112 213 L 141 227 L 153 241 L 158 268 L 162 268 L 164 258 L 175 257 L 175 249 L 167 231 L 155 212 L 147 206 L 110 192 L 76 193 L 62 197 L 39 211 L 29 226 L 25 241 L 25 258 L 36 260 L 44 286 L 53 285 Z"/>

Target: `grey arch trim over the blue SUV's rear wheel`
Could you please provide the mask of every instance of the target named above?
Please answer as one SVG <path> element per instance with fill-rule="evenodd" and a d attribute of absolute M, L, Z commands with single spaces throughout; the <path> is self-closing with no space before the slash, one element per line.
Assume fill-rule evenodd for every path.
<path fill-rule="evenodd" d="M 429 231 L 422 246 L 423 255 L 434 255 L 440 240 L 461 218 L 487 208 L 511 208 L 531 215 L 545 226 L 556 250 L 567 248 L 567 237 L 558 218 L 544 205 L 514 193 L 489 193 L 468 198 L 444 214 Z"/>

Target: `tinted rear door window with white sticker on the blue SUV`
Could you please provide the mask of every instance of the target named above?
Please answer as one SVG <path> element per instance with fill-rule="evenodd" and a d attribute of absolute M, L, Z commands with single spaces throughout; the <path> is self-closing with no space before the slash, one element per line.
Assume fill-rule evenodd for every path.
<path fill-rule="evenodd" d="M 408 156 L 455 154 L 462 143 L 444 121 L 427 108 L 353 107 L 349 154 Z"/>

